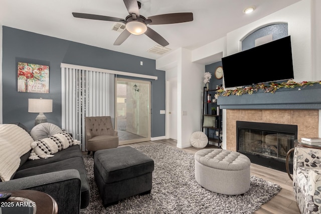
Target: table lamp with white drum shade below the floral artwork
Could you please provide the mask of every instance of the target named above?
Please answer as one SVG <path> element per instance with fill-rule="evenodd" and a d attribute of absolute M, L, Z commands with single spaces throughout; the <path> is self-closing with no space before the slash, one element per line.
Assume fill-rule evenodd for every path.
<path fill-rule="evenodd" d="M 35 126 L 46 123 L 47 117 L 44 113 L 52 112 L 52 100 L 50 99 L 28 99 L 28 112 L 39 113 L 35 120 Z"/>

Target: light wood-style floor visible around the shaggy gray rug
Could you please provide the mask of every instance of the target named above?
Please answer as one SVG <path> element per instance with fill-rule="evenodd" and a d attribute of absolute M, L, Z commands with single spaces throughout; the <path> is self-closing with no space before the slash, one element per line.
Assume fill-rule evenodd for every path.
<path fill-rule="evenodd" d="M 171 139 L 164 139 L 164 140 L 155 140 L 155 141 L 145 141 L 140 143 L 132 143 L 132 144 L 126 144 L 121 146 L 131 146 L 131 147 L 138 147 L 143 145 L 152 145 L 157 143 L 163 143 L 166 145 L 170 145 L 173 147 L 176 147 L 176 140 Z M 215 146 L 208 145 L 206 148 L 215 148 Z M 188 147 L 183 148 L 182 150 L 195 154 L 199 148 L 195 147 Z M 262 214 L 262 213 L 291 213 L 296 214 L 300 213 L 299 208 L 297 206 L 294 193 L 292 190 L 292 180 L 288 177 L 286 172 L 278 171 L 275 169 L 271 169 L 268 167 L 264 167 L 261 165 L 257 165 L 252 163 L 251 164 L 251 174 L 255 175 L 257 177 L 263 178 L 267 181 L 271 181 L 274 183 L 277 183 L 281 186 L 281 191 L 273 197 L 270 201 L 263 204 L 257 211 L 255 211 L 256 214 Z"/>

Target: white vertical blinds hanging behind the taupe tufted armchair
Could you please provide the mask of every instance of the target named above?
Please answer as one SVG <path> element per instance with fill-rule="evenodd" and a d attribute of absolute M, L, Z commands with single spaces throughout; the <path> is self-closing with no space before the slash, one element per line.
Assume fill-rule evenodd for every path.
<path fill-rule="evenodd" d="M 76 68 L 61 68 L 62 128 L 81 141 L 85 151 L 85 117 L 114 118 L 114 75 Z"/>

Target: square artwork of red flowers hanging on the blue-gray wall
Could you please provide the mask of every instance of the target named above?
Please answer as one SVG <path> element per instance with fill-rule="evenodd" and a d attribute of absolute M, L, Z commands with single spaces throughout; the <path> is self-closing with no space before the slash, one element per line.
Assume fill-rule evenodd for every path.
<path fill-rule="evenodd" d="M 18 92 L 49 93 L 49 66 L 19 62 Z"/>

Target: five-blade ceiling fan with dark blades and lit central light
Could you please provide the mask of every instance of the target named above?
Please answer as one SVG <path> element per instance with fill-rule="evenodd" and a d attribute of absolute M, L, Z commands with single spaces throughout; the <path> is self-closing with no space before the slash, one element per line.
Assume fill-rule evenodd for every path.
<path fill-rule="evenodd" d="M 72 13 L 72 15 L 75 18 L 124 23 L 126 25 L 126 28 L 116 39 L 114 45 L 121 45 L 130 36 L 130 34 L 145 34 L 147 37 L 149 37 L 159 45 L 165 47 L 169 45 L 169 43 L 161 35 L 156 33 L 147 25 L 164 25 L 193 21 L 193 13 L 162 14 L 145 18 L 139 15 L 139 9 L 141 7 L 140 2 L 136 0 L 123 1 L 129 13 L 129 16 L 127 16 L 125 19 L 82 13 Z"/>

